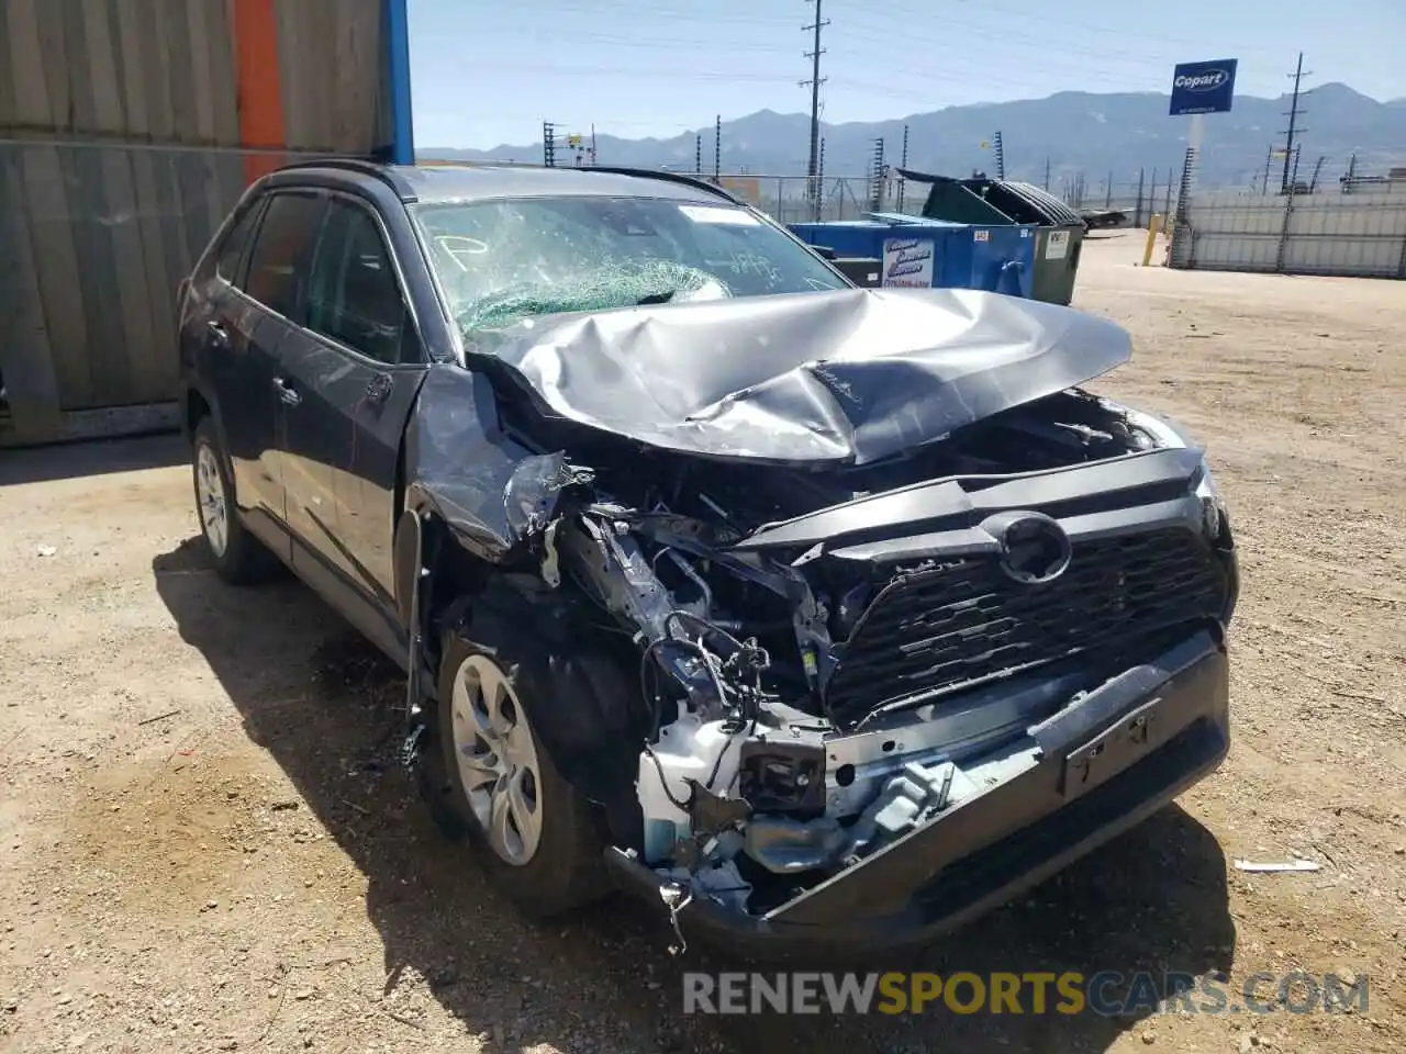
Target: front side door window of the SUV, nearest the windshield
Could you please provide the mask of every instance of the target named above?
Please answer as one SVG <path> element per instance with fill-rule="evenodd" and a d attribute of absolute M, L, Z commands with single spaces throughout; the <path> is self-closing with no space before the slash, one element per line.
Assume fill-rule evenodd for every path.
<path fill-rule="evenodd" d="M 336 198 L 312 264 L 308 329 L 382 363 L 401 361 L 411 330 L 395 268 L 370 211 Z"/>

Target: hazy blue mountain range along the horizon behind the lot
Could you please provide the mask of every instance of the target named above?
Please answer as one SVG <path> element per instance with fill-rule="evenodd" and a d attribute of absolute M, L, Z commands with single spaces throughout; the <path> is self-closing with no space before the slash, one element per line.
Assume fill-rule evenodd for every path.
<path fill-rule="evenodd" d="M 1201 181 L 1208 187 L 1249 186 L 1263 171 L 1271 148 L 1281 146 L 1288 126 L 1289 97 L 1237 96 L 1229 114 L 1205 117 Z M 1322 156 L 1324 180 L 1336 180 L 1357 155 L 1358 174 L 1382 174 L 1388 166 L 1406 164 L 1406 98 L 1379 103 L 1346 84 L 1329 83 L 1301 96 L 1303 114 L 1301 176 L 1306 180 Z M 1112 177 L 1115 193 L 1126 195 L 1137 184 L 1139 170 L 1159 180 L 1180 170 L 1187 149 L 1189 118 L 1168 117 L 1168 97 L 1153 91 L 1059 91 L 1047 98 L 948 107 L 891 121 L 821 122 L 825 145 L 824 173 L 865 176 L 870 171 L 875 141 L 884 141 L 884 160 L 900 162 L 904 128 L 908 131 L 908 167 L 949 176 L 973 170 L 995 171 L 994 134 L 1001 132 L 1005 171 L 1011 178 L 1046 181 L 1050 190 L 1083 178 L 1102 193 Z M 574 150 L 565 134 L 588 128 L 557 129 L 557 163 L 571 164 Z M 703 170 L 713 171 L 713 128 L 669 139 L 596 136 L 600 164 L 695 169 L 702 136 Z M 803 174 L 810 146 L 807 114 L 761 110 L 721 124 L 720 170 L 724 174 Z M 540 163 L 541 141 L 502 145 L 491 150 L 422 148 L 423 159 L 498 160 Z M 1274 162 L 1274 180 L 1282 160 Z"/>

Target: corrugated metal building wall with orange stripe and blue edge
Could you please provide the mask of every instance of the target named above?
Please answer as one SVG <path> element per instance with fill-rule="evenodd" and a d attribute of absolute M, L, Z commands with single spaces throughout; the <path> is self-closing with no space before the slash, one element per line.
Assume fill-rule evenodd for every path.
<path fill-rule="evenodd" d="M 0 0 L 0 445 L 176 393 L 176 288 L 247 183 L 412 149 L 405 0 Z"/>

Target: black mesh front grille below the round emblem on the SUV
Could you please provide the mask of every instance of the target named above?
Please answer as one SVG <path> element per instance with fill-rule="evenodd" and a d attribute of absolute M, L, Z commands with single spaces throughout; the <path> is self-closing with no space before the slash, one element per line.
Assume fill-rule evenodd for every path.
<path fill-rule="evenodd" d="M 825 704 L 852 725 L 884 703 L 1213 618 L 1227 590 L 1220 561 L 1184 528 L 1078 542 L 1045 585 L 1014 582 L 984 555 L 901 573 L 837 649 Z"/>

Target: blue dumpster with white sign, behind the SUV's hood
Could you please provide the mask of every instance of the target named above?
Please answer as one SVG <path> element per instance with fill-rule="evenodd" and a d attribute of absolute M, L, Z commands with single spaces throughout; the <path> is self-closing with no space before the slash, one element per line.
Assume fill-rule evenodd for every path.
<path fill-rule="evenodd" d="M 808 245 L 883 261 L 882 285 L 986 289 L 1029 298 L 1035 225 L 979 226 L 876 212 L 870 219 L 790 223 Z"/>

